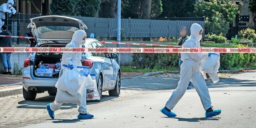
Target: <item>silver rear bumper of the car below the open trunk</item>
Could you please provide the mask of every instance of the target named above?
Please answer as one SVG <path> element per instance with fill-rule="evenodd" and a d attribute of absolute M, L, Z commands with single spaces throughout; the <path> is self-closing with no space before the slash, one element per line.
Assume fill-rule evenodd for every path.
<path fill-rule="evenodd" d="M 55 88 L 57 80 L 22 79 L 26 91 L 36 88 L 36 91 L 57 91 Z"/>

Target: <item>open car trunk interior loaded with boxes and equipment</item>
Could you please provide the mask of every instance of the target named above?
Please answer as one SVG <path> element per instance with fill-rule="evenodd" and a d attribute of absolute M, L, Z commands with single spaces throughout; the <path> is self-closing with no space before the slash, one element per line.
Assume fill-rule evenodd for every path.
<path fill-rule="evenodd" d="M 39 47 L 65 47 L 67 44 L 42 44 Z M 33 76 L 40 78 L 58 78 L 62 53 L 36 53 Z M 43 66 L 41 66 L 43 65 Z"/>

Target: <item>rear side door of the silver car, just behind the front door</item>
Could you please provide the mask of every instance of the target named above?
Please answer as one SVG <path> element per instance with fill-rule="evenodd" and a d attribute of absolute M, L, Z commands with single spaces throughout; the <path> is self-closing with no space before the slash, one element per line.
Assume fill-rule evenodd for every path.
<path fill-rule="evenodd" d="M 97 45 L 96 42 L 91 43 L 91 46 L 93 48 L 99 48 L 99 46 Z M 93 62 L 95 63 L 100 63 L 99 65 L 101 65 L 101 69 L 103 72 L 103 82 L 105 83 L 106 87 L 108 88 L 108 81 L 109 81 L 109 64 L 105 62 L 105 58 L 103 57 L 102 53 L 100 52 L 96 52 L 96 53 L 90 53 L 93 56 Z"/>

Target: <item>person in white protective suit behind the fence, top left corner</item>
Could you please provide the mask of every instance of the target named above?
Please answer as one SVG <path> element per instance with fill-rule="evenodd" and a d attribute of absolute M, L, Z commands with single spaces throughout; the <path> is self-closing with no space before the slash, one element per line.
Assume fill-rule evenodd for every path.
<path fill-rule="evenodd" d="M 0 6 L 0 28 L 4 25 L 5 13 L 15 14 L 16 10 L 12 7 L 14 5 L 13 0 L 8 0 L 7 3 L 3 3 Z M 1 32 L 1 30 L 0 30 Z"/>

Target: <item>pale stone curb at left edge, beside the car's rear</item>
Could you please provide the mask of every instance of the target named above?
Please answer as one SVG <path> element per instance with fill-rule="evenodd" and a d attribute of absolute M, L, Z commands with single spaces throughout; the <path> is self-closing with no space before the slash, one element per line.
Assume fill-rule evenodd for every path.
<path fill-rule="evenodd" d="M 22 96 L 22 86 L 0 90 L 0 99 Z"/>

